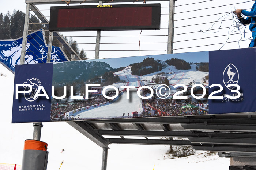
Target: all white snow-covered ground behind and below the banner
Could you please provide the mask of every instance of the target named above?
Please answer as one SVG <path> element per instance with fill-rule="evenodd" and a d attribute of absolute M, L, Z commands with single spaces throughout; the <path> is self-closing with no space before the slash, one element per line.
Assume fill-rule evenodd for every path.
<path fill-rule="evenodd" d="M 0 64 L 0 163 L 22 164 L 23 145 L 32 139 L 32 123 L 11 124 L 14 75 Z M 3 83 L 4 82 L 4 83 Z M 123 95 L 125 96 L 125 94 Z M 48 170 L 101 169 L 102 149 L 65 122 L 43 123 L 41 141 L 48 143 Z M 218 155 L 192 155 L 178 159 L 165 159 L 169 146 L 109 145 L 108 170 L 225 170 L 229 158 Z M 60 153 L 65 149 L 63 154 Z M 154 167 L 155 165 L 155 167 Z"/>

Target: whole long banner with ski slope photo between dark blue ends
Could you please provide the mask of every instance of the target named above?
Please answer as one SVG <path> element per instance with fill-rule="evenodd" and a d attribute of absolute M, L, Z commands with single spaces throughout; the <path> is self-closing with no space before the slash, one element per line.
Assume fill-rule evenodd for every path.
<path fill-rule="evenodd" d="M 255 112 L 256 49 L 17 65 L 12 123 Z"/>

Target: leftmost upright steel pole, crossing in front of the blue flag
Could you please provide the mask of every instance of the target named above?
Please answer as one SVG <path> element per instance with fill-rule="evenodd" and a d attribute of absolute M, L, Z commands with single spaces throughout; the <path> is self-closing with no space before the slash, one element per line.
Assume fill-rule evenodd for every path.
<path fill-rule="evenodd" d="M 28 27 L 29 27 L 29 11 L 30 11 L 30 3 L 28 3 L 27 7 L 26 7 L 26 15 L 25 15 L 25 23 L 24 23 L 23 39 L 22 39 L 22 49 L 21 49 L 21 56 L 20 56 L 20 64 L 24 64 L 24 62 L 25 62 L 26 44 L 27 44 L 27 30 L 28 30 Z"/>

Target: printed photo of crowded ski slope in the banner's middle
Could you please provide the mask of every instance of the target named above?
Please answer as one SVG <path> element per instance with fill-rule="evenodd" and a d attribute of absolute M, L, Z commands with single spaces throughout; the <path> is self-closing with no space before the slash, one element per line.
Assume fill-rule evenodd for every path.
<path fill-rule="evenodd" d="M 67 95 L 61 100 L 52 98 L 51 121 L 208 114 L 208 70 L 208 54 L 204 52 L 56 63 L 53 67 L 54 94 L 63 96 L 65 86 Z M 88 90 L 95 90 L 89 93 L 88 99 L 85 98 L 86 84 L 90 84 Z M 101 87 L 93 84 L 101 84 Z M 159 98 L 162 92 L 157 87 L 161 84 L 169 87 L 162 96 L 165 99 Z M 181 86 L 173 87 L 177 84 L 187 87 L 177 95 L 187 96 L 187 99 L 173 99 L 176 92 L 184 90 Z M 195 84 L 206 88 L 204 96 L 201 87 L 193 91 L 194 95 L 202 96 L 201 99 L 191 95 L 191 87 Z M 71 99 L 70 86 L 74 86 L 76 99 Z M 105 91 L 107 96 L 116 95 L 114 99 L 107 99 L 102 94 L 103 88 L 108 86 L 118 89 L 118 94 L 112 88 Z M 127 90 L 121 86 L 135 87 L 129 90 L 129 99 Z M 154 90 L 151 98 L 138 96 L 138 88 L 142 86 Z M 142 96 L 150 93 L 147 88 L 139 91 Z"/>

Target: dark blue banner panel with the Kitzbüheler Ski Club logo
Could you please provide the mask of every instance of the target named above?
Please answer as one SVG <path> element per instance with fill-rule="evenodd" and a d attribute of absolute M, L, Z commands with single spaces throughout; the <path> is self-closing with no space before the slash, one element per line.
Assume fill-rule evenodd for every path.
<path fill-rule="evenodd" d="M 237 83 L 241 97 L 238 99 L 209 99 L 209 113 L 255 112 L 256 49 L 221 50 L 209 52 L 209 85 L 221 84 L 223 91 L 216 94 L 236 94 L 226 87 Z M 219 88 L 210 88 L 209 93 Z M 235 90 L 236 88 L 234 88 Z"/>

